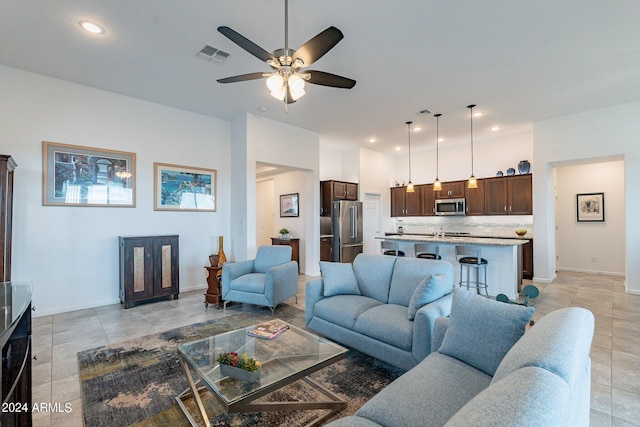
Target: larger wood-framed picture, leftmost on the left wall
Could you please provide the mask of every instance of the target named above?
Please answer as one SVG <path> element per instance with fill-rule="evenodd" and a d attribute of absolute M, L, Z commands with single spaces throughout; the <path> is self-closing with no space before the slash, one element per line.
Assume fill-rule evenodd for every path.
<path fill-rule="evenodd" d="M 42 141 L 42 204 L 135 207 L 135 153 Z"/>

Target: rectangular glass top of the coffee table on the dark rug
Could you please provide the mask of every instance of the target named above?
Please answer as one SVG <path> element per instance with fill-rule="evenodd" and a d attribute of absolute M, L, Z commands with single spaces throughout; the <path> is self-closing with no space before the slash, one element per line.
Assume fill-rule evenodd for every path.
<path fill-rule="evenodd" d="M 178 346 L 180 356 L 227 405 L 267 387 L 304 377 L 347 353 L 346 348 L 291 324 L 272 340 L 247 335 L 254 328 L 255 325 Z M 244 382 L 220 374 L 216 359 L 220 353 L 231 351 L 239 355 L 246 352 L 262 363 L 259 381 Z"/>

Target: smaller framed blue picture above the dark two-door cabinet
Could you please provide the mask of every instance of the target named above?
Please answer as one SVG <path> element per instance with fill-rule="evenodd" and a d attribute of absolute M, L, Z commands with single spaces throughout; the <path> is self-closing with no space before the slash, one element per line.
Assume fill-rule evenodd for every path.
<path fill-rule="evenodd" d="M 157 211 L 216 211 L 215 169 L 154 163 Z"/>

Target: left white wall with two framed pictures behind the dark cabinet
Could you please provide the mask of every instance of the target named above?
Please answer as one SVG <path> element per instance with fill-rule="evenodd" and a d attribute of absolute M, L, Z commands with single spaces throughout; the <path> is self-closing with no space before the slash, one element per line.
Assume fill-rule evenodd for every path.
<path fill-rule="evenodd" d="M 117 303 L 119 235 L 179 234 L 181 290 L 206 287 L 229 229 L 229 122 L 5 66 L 0 93 L 0 151 L 18 163 L 12 279 L 32 281 L 34 315 Z M 136 153 L 136 207 L 42 206 L 43 140 Z M 218 211 L 154 211 L 153 162 L 217 169 Z"/>

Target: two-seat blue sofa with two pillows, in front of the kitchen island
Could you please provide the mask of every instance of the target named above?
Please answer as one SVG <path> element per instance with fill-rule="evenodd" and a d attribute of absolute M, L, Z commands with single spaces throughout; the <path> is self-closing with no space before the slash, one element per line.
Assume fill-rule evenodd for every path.
<path fill-rule="evenodd" d="M 307 328 L 405 370 L 431 353 L 435 321 L 451 310 L 449 262 L 359 254 L 320 270 L 306 285 Z"/>

